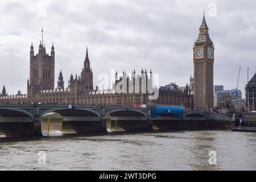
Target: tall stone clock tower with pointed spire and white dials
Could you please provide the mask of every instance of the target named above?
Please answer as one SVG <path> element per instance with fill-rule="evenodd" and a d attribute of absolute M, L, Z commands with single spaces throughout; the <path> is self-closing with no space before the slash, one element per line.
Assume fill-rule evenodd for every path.
<path fill-rule="evenodd" d="M 199 36 L 193 47 L 195 96 L 194 109 L 213 108 L 213 63 L 214 46 L 209 37 L 209 28 L 205 21 L 199 28 Z"/>

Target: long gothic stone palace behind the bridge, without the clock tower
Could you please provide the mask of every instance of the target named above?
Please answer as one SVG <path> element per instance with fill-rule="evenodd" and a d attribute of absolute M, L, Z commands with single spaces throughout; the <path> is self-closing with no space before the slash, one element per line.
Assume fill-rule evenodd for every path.
<path fill-rule="evenodd" d="M 46 53 L 46 48 L 40 44 L 39 53 L 34 55 L 34 47 L 30 48 L 30 80 L 27 81 L 27 95 L 1 96 L 0 103 L 17 104 L 82 104 L 82 105 L 112 105 L 112 106 L 134 106 L 134 105 L 183 105 L 193 109 L 193 95 L 187 85 L 184 90 L 179 88 L 159 89 L 159 97 L 150 100 L 152 86 L 152 72 L 141 72 L 141 75 L 132 72 L 132 77 L 126 76 L 123 72 L 122 77 L 118 78 L 117 73 L 112 90 L 98 90 L 93 88 L 93 72 L 90 68 L 88 49 L 84 60 L 81 76 L 71 75 L 68 87 L 64 88 L 62 72 L 59 75 L 57 88 L 54 88 L 54 66 L 55 50 L 52 46 L 51 56 Z M 119 87 L 122 92 L 115 90 Z M 138 80 L 138 81 L 137 81 Z M 130 86 L 129 86 L 130 85 Z M 131 86 L 133 85 L 133 86 Z M 152 88 L 151 88 L 152 89 Z M 156 88 L 154 88 L 156 89 Z M 125 91 L 126 90 L 126 91 Z"/>

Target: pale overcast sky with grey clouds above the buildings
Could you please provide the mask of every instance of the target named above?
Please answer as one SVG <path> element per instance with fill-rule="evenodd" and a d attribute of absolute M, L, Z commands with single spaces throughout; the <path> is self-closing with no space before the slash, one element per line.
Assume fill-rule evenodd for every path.
<path fill-rule="evenodd" d="M 46 51 L 52 42 L 55 46 L 55 82 L 60 69 L 65 85 L 71 73 L 80 74 L 88 46 L 94 86 L 100 73 L 134 68 L 152 68 L 160 85 L 185 86 L 193 75 L 192 48 L 205 9 L 216 48 L 214 85 L 235 88 L 241 65 L 244 93 L 247 67 L 249 77 L 256 67 L 255 7 L 254 0 L 0 0 L 0 87 L 27 92 L 30 46 L 33 42 L 38 52 L 42 27 Z"/>

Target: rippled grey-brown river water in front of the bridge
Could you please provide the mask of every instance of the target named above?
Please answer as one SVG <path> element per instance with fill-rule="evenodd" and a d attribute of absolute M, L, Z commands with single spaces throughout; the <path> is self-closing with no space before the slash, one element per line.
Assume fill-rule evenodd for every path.
<path fill-rule="evenodd" d="M 229 130 L 79 137 L 52 125 L 50 138 L 0 138 L 0 170 L 255 170 L 255 139 Z M 38 163 L 39 151 L 46 164 Z M 210 151 L 216 165 L 209 164 Z"/>

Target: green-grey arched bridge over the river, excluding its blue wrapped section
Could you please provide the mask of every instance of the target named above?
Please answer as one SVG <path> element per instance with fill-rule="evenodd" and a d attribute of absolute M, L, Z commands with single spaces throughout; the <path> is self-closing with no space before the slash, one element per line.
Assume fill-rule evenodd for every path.
<path fill-rule="evenodd" d="M 106 133 L 106 119 L 117 121 L 126 131 L 159 129 L 229 129 L 230 119 L 207 111 L 185 110 L 183 117 L 162 113 L 151 118 L 151 109 L 142 107 L 96 105 L 0 105 L 0 131 L 7 137 L 41 137 L 40 118 L 47 113 L 59 113 L 62 126 L 77 134 Z"/>

